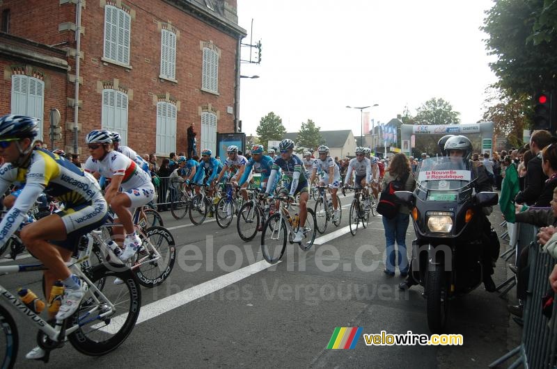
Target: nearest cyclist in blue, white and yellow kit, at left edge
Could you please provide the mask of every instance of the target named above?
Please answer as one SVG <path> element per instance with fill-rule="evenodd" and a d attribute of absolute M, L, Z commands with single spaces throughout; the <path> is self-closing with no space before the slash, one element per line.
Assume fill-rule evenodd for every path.
<path fill-rule="evenodd" d="M 65 205 L 65 210 L 27 224 L 21 238 L 29 252 L 47 268 L 45 293 L 50 295 L 54 281 L 60 279 L 65 291 L 56 319 L 72 315 L 86 293 L 86 284 L 65 265 L 70 261 L 79 238 L 100 227 L 107 219 L 107 202 L 97 181 L 70 161 L 46 149 L 35 148 L 38 120 L 24 115 L 0 117 L 0 192 L 12 184 L 25 185 L 12 208 L 0 223 L 0 245 L 27 219 L 27 211 L 44 191 Z M 48 241 L 47 241 L 48 240 Z M 28 359 L 40 359 L 45 352 L 32 350 Z"/>

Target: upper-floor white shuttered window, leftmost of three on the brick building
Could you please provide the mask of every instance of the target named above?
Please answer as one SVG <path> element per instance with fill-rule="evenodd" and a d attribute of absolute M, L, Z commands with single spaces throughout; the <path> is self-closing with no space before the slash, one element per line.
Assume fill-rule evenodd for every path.
<path fill-rule="evenodd" d="M 104 7 L 104 58 L 130 65 L 130 19 L 116 6 Z"/>

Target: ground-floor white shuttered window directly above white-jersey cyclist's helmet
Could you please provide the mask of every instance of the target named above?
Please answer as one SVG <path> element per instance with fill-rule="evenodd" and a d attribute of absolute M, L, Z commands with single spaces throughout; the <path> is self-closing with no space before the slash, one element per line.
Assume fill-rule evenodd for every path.
<path fill-rule="evenodd" d="M 101 127 L 120 133 L 120 145 L 127 145 L 127 95 L 116 90 L 102 90 Z"/>

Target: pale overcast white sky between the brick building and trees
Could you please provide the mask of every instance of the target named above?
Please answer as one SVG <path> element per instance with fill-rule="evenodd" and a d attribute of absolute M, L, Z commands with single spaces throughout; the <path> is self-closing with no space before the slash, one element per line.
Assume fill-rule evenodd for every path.
<path fill-rule="evenodd" d="M 483 115 L 497 79 L 480 31 L 492 0 L 237 0 L 245 44 L 262 43 L 259 65 L 242 63 L 242 131 L 280 116 L 286 131 L 311 119 L 322 131 L 360 135 L 360 110 L 375 123 L 410 114 L 432 97 L 448 101 L 462 123 Z M 251 22 L 253 19 L 253 32 Z M 243 48 L 242 59 L 249 59 Z"/>

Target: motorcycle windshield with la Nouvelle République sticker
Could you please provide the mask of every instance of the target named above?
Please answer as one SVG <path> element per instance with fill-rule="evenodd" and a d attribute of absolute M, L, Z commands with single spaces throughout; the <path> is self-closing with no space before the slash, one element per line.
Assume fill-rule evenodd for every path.
<path fill-rule="evenodd" d="M 428 192 L 430 201 L 454 201 L 470 185 L 468 161 L 459 156 L 441 156 L 421 161 L 416 169 L 418 186 Z"/>

